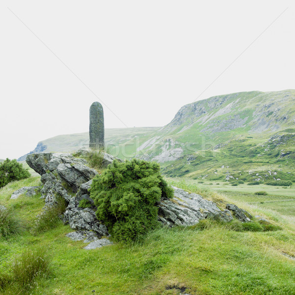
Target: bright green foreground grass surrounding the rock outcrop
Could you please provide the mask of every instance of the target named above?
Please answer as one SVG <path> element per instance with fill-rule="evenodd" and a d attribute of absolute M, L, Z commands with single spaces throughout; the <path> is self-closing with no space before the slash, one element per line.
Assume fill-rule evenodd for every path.
<path fill-rule="evenodd" d="M 218 200 L 221 206 L 222 202 L 234 202 L 282 229 L 237 231 L 235 224 L 207 221 L 202 227 L 158 229 L 140 244 L 115 243 L 87 251 L 83 249 L 83 242 L 74 242 L 65 236 L 72 230 L 62 222 L 47 232 L 31 233 L 44 200 L 40 195 L 9 199 L 11 193 L 22 186 L 40 184 L 39 177 L 31 177 L 0 189 L 0 205 L 12 209 L 14 215 L 26 223 L 21 236 L 0 238 L 0 282 L 13 259 L 25 248 L 46 248 L 50 255 L 50 273 L 35 280 L 27 293 L 14 283 L 8 287 L 2 284 L 0 294 L 295 294 L 294 212 L 282 214 L 266 208 L 266 200 L 264 204 L 253 204 L 255 195 L 251 193 L 220 194 L 208 185 L 191 182 L 193 180 L 168 181 Z"/>

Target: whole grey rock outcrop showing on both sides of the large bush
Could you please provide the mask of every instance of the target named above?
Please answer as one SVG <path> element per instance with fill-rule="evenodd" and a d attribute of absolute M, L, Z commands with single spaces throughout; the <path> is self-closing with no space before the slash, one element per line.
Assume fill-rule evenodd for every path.
<path fill-rule="evenodd" d="M 113 160 L 114 157 L 104 154 L 105 166 Z M 36 153 L 28 155 L 27 163 L 41 175 L 41 195 L 45 199 L 45 209 L 53 206 L 57 198 L 63 198 L 68 206 L 62 219 L 73 230 L 86 233 L 91 231 L 98 237 L 108 236 L 107 228 L 96 219 L 96 207 L 89 194 L 92 178 L 97 172 L 86 165 L 85 159 L 75 158 L 69 153 Z M 225 222 L 233 219 L 232 207 L 229 207 L 229 210 L 221 210 L 200 195 L 190 194 L 177 187 L 174 187 L 174 191 L 174 199 L 162 199 L 158 204 L 158 220 L 164 225 L 190 226 L 208 217 Z M 90 204 L 88 208 L 79 207 L 83 199 Z"/>

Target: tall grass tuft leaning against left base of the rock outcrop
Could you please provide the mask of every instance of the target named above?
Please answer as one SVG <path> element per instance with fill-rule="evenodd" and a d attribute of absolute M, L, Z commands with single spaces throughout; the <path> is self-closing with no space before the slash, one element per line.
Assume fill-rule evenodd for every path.
<path fill-rule="evenodd" d="M 59 197 L 56 199 L 57 202 L 52 207 L 46 207 L 35 220 L 34 225 L 31 228 L 31 233 L 36 235 L 39 233 L 47 232 L 53 228 L 56 228 L 61 220 L 59 215 L 65 211 L 67 206 L 66 201 Z"/>

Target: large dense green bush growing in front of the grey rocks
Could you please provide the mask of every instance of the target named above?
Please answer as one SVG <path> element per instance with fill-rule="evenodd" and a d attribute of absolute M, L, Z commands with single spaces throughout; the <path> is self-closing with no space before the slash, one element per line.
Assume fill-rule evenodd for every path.
<path fill-rule="evenodd" d="M 134 241 L 158 224 L 161 198 L 172 198 L 173 189 L 160 175 L 155 162 L 115 160 L 101 175 L 93 178 L 90 196 L 96 215 L 118 241 Z"/>

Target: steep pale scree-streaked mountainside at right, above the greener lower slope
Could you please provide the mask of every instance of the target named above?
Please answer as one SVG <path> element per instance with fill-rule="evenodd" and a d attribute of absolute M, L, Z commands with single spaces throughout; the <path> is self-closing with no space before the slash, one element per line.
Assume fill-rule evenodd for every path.
<path fill-rule="evenodd" d="M 179 150 L 187 155 L 247 137 L 262 142 L 295 127 L 294 117 L 295 90 L 214 96 L 183 106 L 141 149 L 149 158 L 167 162 Z"/>

